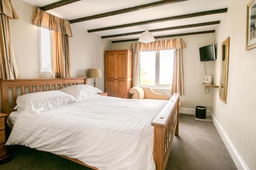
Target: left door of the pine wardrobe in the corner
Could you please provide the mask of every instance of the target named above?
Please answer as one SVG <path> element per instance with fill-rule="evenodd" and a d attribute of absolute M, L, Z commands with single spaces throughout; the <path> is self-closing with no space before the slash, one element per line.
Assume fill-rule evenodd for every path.
<path fill-rule="evenodd" d="M 114 95 L 114 79 L 115 79 L 115 53 L 105 52 L 105 91 L 109 92 L 109 96 Z"/>

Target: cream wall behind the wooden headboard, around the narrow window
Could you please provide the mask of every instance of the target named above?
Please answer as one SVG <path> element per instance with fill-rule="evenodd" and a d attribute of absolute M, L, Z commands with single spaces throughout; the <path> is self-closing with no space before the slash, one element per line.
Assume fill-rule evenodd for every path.
<path fill-rule="evenodd" d="M 19 0 L 11 1 L 19 19 L 11 20 L 11 34 L 20 78 L 50 78 L 51 75 L 39 74 L 39 28 L 32 25 L 33 7 Z M 97 87 L 104 90 L 104 50 L 111 49 L 111 42 L 95 34 L 71 25 L 70 66 L 72 77 L 86 77 L 88 68 L 101 68 L 102 79 Z M 92 85 L 92 79 L 89 84 Z"/>

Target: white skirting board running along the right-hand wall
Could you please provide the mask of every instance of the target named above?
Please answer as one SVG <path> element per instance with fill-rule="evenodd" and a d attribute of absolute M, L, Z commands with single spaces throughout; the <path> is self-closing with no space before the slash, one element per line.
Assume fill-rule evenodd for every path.
<path fill-rule="evenodd" d="M 238 150 L 234 146 L 231 139 L 228 137 L 225 130 L 222 128 L 222 126 L 219 123 L 219 121 L 217 120 L 217 118 L 213 114 L 211 114 L 211 119 L 214 122 L 214 125 L 215 125 L 217 131 L 219 132 L 223 142 L 225 143 L 226 148 L 227 148 L 230 156 L 232 157 L 234 163 L 236 164 L 237 168 L 239 170 L 249 170 L 249 167 L 247 166 L 247 164 L 245 163 L 245 161 L 243 160 L 243 158 L 239 154 Z"/>

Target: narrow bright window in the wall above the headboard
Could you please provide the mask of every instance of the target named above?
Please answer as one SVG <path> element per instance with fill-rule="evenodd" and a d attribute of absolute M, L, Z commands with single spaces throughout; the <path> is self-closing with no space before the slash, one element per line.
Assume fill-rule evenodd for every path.
<path fill-rule="evenodd" d="M 50 31 L 40 28 L 40 73 L 50 74 L 51 64 L 51 37 Z"/>

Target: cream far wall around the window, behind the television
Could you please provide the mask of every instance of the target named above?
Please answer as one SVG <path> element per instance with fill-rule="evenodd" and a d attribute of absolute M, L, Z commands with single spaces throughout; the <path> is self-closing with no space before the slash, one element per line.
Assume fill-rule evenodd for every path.
<path fill-rule="evenodd" d="M 174 37 L 175 38 L 175 37 Z M 177 37 L 176 37 L 177 38 Z M 202 86 L 205 76 L 204 63 L 200 62 L 199 47 L 214 43 L 215 34 L 201 34 L 179 37 L 186 43 L 183 49 L 183 74 L 184 74 L 184 95 L 181 96 L 181 107 L 195 108 L 198 105 L 211 109 L 212 89 L 205 94 Z M 159 40 L 159 39 L 158 39 Z M 112 50 L 131 49 L 132 42 L 112 43 Z M 214 65 L 216 61 L 207 61 L 207 75 L 214 76 Z M 170 96 L 170 90 L 154 89 L 156 92 Z"/>

